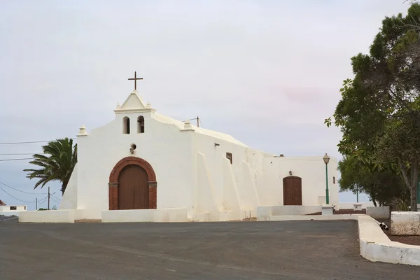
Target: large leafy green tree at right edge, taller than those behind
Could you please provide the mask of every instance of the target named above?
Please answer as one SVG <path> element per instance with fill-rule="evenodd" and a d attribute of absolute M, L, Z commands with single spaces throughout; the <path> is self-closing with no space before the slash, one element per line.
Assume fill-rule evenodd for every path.
<path fill-rule="evenodd" d="M 417 210 L 420 161 L 420 4 L 407 16 L 386 17 L 369 55 L 351 58 L 353 80 L 344 80 L 334 113 L 342 127 L 339 151 L 371 171 L 398 169 Z M 325 120 L 329 126 L 331 119 Z"/>

